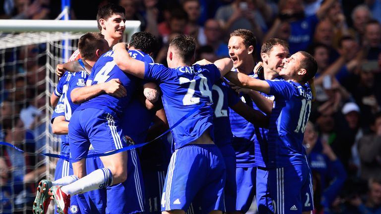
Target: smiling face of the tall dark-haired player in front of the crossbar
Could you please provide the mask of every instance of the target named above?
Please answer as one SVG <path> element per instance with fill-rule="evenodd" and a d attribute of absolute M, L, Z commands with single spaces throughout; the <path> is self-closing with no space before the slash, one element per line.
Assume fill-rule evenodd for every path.
<path fill-rule="evenodd" d="M 110 44 L 110 39 L 114 40 L 111 44 L 115 44 L 118 40 L 121 40 L 123 37 L 123 33 L 126 30 L 126 18 L 123 13 L 114 13 L 107 20 L 100 19 L 99 23 L 102 26 L 101 33 L 105 36 L 105 39 Z"/>

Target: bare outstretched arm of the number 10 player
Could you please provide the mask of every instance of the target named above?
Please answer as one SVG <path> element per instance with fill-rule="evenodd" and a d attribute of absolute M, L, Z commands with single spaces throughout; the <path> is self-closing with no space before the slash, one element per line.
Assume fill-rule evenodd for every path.
<path fill-rule="evenodd" d="M 246 74 L 230 71 L 225 75 L 230 82 L 244 88 L 253 89 L 263 93 L 270 93 L 270 85 L 264 80 L 254 79 Z"/>

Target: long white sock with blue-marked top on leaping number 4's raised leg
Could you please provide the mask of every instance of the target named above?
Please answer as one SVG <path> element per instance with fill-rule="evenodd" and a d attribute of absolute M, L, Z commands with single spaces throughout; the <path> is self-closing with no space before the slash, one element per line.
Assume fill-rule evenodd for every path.
<path fill-rule="evenodd" d="M 91 190 L 102 189 L 111 186 L 113 174 L 108 168 L 97 169 L 74 183 L 63 186 L 61 190 L 68 195 L 76 195 Z"/>

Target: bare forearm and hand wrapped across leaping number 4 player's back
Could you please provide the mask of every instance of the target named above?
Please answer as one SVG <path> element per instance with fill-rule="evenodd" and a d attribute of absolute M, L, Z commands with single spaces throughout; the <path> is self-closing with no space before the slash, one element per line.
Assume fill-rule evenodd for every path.
<path fill-rule="evenodd" d="M 74 104 L 81 104 L 103 93 L 118 98 L 127 96 L 127 90 L 121 81 L 119 79 L 111 79 L 105 83 L 75 88 L 71 91 L 70 98 Z"/>

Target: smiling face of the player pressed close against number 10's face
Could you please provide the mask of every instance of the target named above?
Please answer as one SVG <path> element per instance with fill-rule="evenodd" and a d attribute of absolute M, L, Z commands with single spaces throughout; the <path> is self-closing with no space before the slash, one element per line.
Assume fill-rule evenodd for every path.
<path fill-rule="evenodd" d="M 282 45 L 275 45 L 271 50 L 266 53 L 262 53 L 263 67 L 265 71 L 273 71 L 279 73 L 283 68 L 283 59 L 290 56 L 287 47 Z"/>

